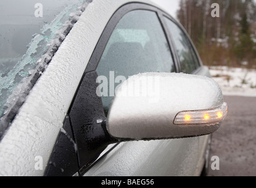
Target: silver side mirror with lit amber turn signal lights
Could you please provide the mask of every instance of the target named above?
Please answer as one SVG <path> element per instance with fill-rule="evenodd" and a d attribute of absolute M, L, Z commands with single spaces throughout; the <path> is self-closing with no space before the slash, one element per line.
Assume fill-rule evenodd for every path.
<path fill-rule="evenodd" d="M 208 135 L 227 115 L 220 86 L 184 73 L 140 73 L 117 89 L 107 117 L 118 140 L 173 139 Z"/>

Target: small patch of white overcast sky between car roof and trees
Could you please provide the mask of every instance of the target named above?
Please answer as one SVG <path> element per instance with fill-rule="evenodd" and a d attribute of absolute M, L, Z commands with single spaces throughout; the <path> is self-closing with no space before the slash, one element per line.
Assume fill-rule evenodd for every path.
<path fill-rule="evenodd" d="M 155 4 L 158 4 L 162 6 L 164 9 L 166 9 L 169 14 L 171 14 L 174 18 L 177 18 L 176 12 L 179 8 L 179 0 L 151 0 L 155 2 Z"/>

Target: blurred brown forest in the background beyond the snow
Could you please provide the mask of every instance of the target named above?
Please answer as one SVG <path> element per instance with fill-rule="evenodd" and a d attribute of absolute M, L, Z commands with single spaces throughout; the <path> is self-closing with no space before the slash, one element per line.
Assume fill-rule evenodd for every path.
<path fill-rule="evenodd" d="M 219 18 L 211 16 L 214 3 Z M 177 18 L 205 65 L 256 68 L 254 0 L 180 0 Z"/>

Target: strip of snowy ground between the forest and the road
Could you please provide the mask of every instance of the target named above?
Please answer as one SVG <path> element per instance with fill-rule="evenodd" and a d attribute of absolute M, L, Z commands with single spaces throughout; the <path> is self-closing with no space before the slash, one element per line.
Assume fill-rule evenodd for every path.
<path fill-rule="evenodd" d="M 224 95 L 256 97 L 256 70 L 211 66 L 211 76 Z"/>

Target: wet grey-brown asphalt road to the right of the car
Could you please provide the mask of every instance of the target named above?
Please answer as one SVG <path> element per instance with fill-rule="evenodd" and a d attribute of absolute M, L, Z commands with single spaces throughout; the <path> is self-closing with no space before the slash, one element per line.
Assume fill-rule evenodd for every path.
<path fill-rule="evenodd" d="M 228 116 L 212 135 L 211 156 L 220 170 L 209 176 L 256 176 L 256 98 L 225 96 Z M 212 161 L 211 163 L 214 163 Z"/>

